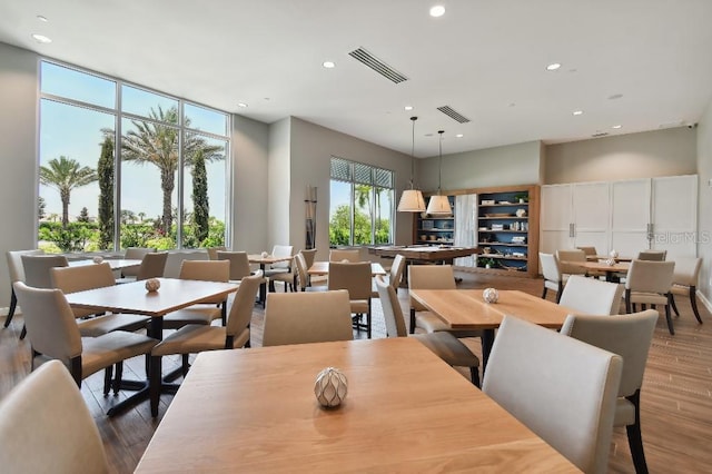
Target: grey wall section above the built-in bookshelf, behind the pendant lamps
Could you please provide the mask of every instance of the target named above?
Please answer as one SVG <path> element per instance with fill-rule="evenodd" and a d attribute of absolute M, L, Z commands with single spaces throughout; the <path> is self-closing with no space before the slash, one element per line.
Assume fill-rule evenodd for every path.
<path fill-rule="evenodd" d="M 443 145 L 444 146 L 444 145 Z M 417 184 L 437 190 L 439 158 L 416 160 Z M 538 141 L 443 155 L 443 190 L 541 182 Z"/>

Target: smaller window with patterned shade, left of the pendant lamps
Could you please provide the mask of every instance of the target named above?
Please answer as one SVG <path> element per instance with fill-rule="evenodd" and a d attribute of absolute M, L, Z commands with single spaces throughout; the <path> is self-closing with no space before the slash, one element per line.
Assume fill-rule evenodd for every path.
<path fill-rule="evenodd" d="M 393 171 L 332 157 L 329 245 L 393 241 Z"/>

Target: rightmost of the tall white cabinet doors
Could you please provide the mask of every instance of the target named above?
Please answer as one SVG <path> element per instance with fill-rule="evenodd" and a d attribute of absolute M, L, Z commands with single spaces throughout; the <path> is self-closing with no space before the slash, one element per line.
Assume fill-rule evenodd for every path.
<path fill-rule="evenodd" d="M 696 256 L 698 176 L 653 178 L 652 247 L 668 259 Z"/>

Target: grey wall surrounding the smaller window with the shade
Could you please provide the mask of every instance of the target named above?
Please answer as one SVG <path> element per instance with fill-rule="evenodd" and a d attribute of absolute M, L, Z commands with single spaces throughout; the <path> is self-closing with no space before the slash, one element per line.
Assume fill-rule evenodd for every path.
<path fill-rule="evenodd" d="M 317 258 L 323 259 L 327 258 L 329 248 L 332 156 L 394 170 L 396 172 L 396 204 L 411 178 L 409 156 L 298 118 L 291 118 L 289 243 L 295 246 L 295 251 L 304 248 L 306 234 L 304 199 L 307 186 L 316 186 L 316 247 Z M 411 244 L 412 223 L 411 214 L 396 213 L 395 239 L 397 244 Z"/>

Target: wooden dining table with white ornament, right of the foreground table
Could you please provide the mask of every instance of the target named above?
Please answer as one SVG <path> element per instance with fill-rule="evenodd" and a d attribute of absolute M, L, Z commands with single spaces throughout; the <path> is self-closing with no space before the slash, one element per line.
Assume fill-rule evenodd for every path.
<path fill-rule="evenodd" d="M 482 330 L 482 371 L 487 367 L 495 329 L 505 315 L 558 329 L 570 314 L 581 314 L 528 293 L 501 290 L 497 303 L 485 303 L 482 289 L 412 289 L 411 297 L 453 329 Z"/>

